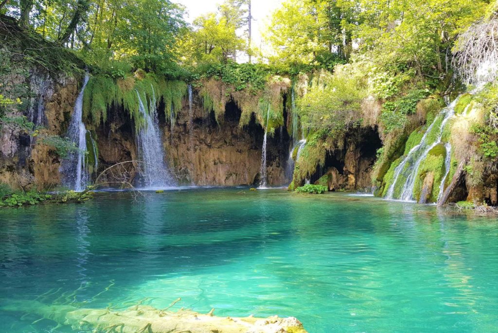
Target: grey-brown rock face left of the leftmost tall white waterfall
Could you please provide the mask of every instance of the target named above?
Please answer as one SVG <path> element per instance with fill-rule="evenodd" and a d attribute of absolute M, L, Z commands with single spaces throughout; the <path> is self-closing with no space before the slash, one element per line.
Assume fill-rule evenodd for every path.
<path fill-rule="evenodd" d="M 48 135 L 61 135 L 67 127 L 78 91 L 74 78 L 51 78 L 36 71 L 17 71 L 1 78 L 7 96 L 29 96 L 10 106 L 8 117 L 24 116 L 38 128 L 31 136 L 19 128 L 3 126 L 0 131 L 0 182 L 12 188 L 52 188 L 60 183 L 60 158 L 43 143 Z M 6 83 L 6 84 L 5 84 Z M 19 88 L 21 87 L 21 88 Z"/>

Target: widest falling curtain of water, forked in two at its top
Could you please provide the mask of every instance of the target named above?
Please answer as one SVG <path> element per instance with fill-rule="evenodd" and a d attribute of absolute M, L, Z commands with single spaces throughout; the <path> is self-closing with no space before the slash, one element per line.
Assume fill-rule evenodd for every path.
<path fill-rule="evenodd" d="M 161 132 L 157 120 L 157 109 L 154 88 L 152 88 L 152 99 L 149 103 L 149 112 L 142 102 L 138 90 L 139 111 L 145 119 L 144 127 L 140 128 L 137 134 L 138 156 L 143 162 L 140 166 L 139 183 L 143 188 L 161 188 L 174 184 L 171 175 L 167 171 L 164 162 L 164 150 L 162 147 Z"/>

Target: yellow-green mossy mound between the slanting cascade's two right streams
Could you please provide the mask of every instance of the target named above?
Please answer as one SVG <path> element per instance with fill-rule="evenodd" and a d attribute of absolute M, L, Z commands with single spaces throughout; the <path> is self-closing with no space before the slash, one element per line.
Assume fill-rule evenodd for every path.
<path fill-rule="evenodd" d="M 429 202 L 437 201 L 439 195 L 439 185 L 441 184 L 441 180 L 446 173 L 444 164 L 445 156 L 446 148 L 443 144 L 438 144 L 429 151 L 427 157 L 420 164 L 415 177 L 415 186 L 413 188 L 413 196 L 417 201 L 420 199 L 420 193 L 425 176 L 429 172 L 434 172 L 434 182 L 432 184 Z"/>

